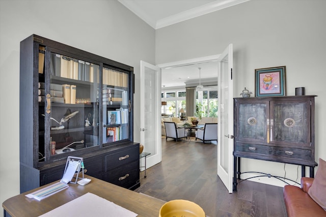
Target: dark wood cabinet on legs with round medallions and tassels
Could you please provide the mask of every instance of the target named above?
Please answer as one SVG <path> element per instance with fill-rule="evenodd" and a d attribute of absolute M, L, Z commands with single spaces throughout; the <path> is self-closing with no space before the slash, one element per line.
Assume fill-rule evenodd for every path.
<path fill-rule="evenodd" d="M 240 158 L 310 167 L 315 162 L 316 96 L 234 98 L 234 183 Z"/>

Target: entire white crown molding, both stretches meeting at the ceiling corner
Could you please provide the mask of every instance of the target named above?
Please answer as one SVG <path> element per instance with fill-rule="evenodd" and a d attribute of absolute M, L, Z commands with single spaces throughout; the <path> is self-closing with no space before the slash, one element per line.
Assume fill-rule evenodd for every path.
<path fill-rule="evenodd" d="M 166 27 L 178 22 L 192 19 L 198 16 L 202 16 L 214 11 L 222 10 L 248 1 L 250 0 L 216 0 L 212 3 L 208 3 L 206 5 L 193 8 L 191 10 L 187 10 L 179 14 L 155 21 L 152 20 L 141 7 L 139 7 L 136 1 L 118 0 L 118 2 L 120 2 L 126 8 L 128 8 L 135 15 L 139 16 L 142 20 L 144 20 L 147 24 L 149 24 L 154 29 Z"/>

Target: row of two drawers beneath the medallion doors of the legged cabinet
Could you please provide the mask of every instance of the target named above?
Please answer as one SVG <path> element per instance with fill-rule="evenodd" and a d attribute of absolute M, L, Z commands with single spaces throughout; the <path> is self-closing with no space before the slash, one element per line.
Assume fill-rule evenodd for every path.
<path fill-rule="evenodd" d="M 235 152 L 244 152 L 246 154 L 252 154 L 253 158 L 256 157 L 256 154 L 264 154 L 265 158 L 290 158 L 311 161 L 311 150 L 300 148 L 237 143 Z M 259 159 L 258 156 L 257 159 Z"/>

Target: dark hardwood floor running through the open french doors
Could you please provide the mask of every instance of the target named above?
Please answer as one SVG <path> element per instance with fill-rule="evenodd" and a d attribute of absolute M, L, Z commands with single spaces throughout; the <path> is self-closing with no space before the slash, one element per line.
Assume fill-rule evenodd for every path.
<path fill-rule="evenodd" d="M 217 146 L 212 143 L 162 139 L 162 162 L 141 172 L 135 192 L 161 200 L 190 200 L 206 215 L 287 216 L 283 188 L 242 181 L 229 194 L 217 175 Z"/>

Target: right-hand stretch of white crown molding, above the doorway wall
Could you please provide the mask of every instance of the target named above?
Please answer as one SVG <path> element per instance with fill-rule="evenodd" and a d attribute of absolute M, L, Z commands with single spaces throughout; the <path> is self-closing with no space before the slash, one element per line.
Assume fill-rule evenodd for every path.
<path fill-rule="evenodd" d="M 206 5 L 193 8 L 191 10 L 187 10 L 185 12 L 181 12 L 179 14 L 157 20 L 155 29 L 166 27 L 168 25 L 172 25 L 178 22 L 182 22 L 188 19 L 192 19 L 198 16 L 202 16 L 214 11 L 222 10 L 231 6 L 235 6 L 244 2 L 248 2 L 250 0 L 218 0 L 212 3 L 208 3 Z"/>

